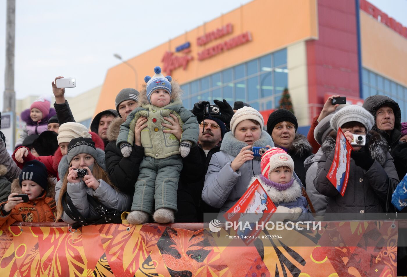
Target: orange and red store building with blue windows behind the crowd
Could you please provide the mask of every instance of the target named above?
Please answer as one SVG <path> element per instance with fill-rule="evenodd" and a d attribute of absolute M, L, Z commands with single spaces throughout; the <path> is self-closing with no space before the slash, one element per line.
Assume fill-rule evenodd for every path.
<path fill-rule="evenodd" d="M 353 104 L 383 94 L 407 109 L 407 28 L 365 0 L 254 0 L 127 63 L 136 89 L 161 66 L 181 84 L 186 108 L 224 98 L 267 117 L 287 88 L 302 128 L 332 94 Z M 128 65 L 110 68 L 95 114 L 134 84 Z"/>

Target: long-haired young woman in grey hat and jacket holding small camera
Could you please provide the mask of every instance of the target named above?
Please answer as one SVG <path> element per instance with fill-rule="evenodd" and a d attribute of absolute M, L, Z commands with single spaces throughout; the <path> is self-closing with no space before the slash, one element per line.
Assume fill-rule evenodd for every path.
<path fill-rule="evenodd" d="M 119 214 L 129 210 L 131 197 L 112 185 L 105 170 L 105 152 L 96 149 L 90 137 L 79 137 L 70 141 L 68 154 L 63 156 L 58 166 L 61 180 L 55 187 L 56 220 L 77 222 L 67 214 L 67 212 L 72 214 L 72 208 L 70 211 L 63 208 L 62 200 L 65 201 L 66 198 L 63 197 L 66 197 L 66 193 L 85 219 L 98 215 L 96 208 L 88 200 L 88 195 L 94 197 L 105 208 L 117 210 Z"/>

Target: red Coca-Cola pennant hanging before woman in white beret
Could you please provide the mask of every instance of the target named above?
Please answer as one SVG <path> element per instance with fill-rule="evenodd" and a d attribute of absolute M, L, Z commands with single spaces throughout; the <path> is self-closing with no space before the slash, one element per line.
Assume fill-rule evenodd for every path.
<path fill-rule="evenodd" d="M 344 196 L 349 180 L 350 152 L 352 145 L 346 139 L 341 128 L 338 129 L 335 145 L 335 156 L 326 177 Z"/>

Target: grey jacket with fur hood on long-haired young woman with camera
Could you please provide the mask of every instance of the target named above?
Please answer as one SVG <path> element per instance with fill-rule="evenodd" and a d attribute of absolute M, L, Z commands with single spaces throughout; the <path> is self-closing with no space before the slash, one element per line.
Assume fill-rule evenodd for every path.
<path fill-rule="evenodd" d="M 98 148 L 96 148 L 96 151 L 98 152 L 96 162 L 103 170 L 106 170 L 105 152 Z M 63 178 L 69 169 L 67 156 L 68 155 L 63 156 L 58 166 L 58 173 L 59 176 L 61 176 L 61 180 L 59 180 L 55 186 L 55 200 L 57 203 L 59 201 L 59 193 L 62 187 Z M 100 182 L 100 186 L 96 190 L 88 188 L 83 181 L 79 183 L 68 182 L 66 190 L 78 212 L 80 212 L 85 218 L 97 215 L 94 207 L 89 205 L 86 194 L 95 197 L 98 201 L 105 205 L 106 208 L 116 209 L 119 211 L 129 210 L 132 200 L 129 195 L 115 190 L 103 180 L 98 181 Z M 72 220 L 65 212 L 62 215 L 62 220 L 66 223 L 75 223 L 75 221 Z"/>

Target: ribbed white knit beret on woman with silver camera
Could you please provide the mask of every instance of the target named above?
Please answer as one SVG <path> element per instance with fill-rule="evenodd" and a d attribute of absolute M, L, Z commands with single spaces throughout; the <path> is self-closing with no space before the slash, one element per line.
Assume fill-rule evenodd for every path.
<path fill-rule="evenodd" d="M 374 118 L 368 110 L 357 105 L 349 105 L 338 110 L 330 120 L 333 130 L 337 131 L 345 123 L 356 121 L 361 123 L 369 132 L 374 125 Z"/>

